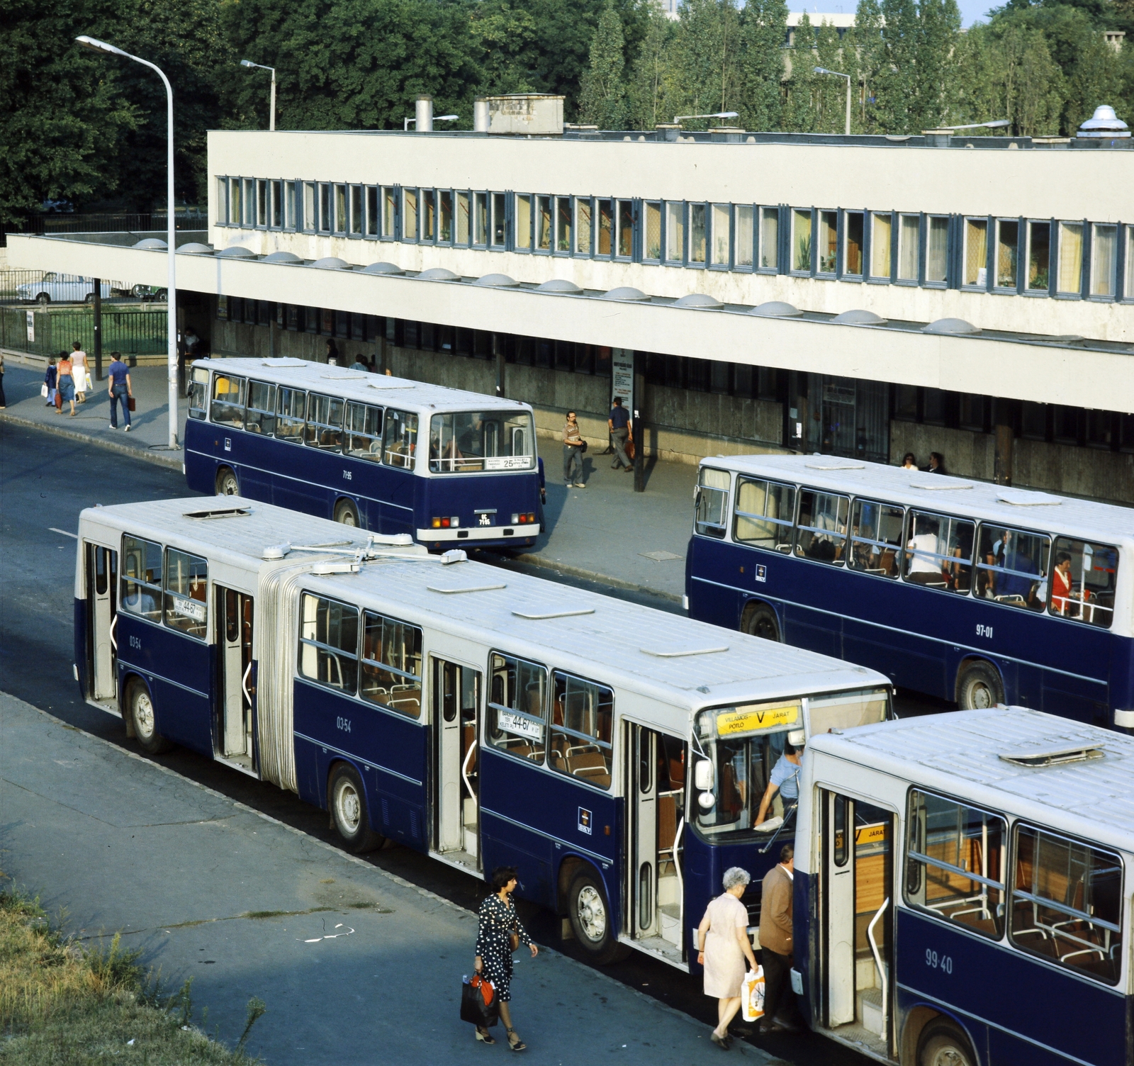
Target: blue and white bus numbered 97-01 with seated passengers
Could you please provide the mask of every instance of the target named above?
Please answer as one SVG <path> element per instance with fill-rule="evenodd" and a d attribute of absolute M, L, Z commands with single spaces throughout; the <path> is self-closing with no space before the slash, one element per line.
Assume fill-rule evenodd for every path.
<path fill-rule="evenodd" d="M 1134 728 L 1134 510 L 833 456 L 701 464 L 693 618 L 962 708 Z"/>

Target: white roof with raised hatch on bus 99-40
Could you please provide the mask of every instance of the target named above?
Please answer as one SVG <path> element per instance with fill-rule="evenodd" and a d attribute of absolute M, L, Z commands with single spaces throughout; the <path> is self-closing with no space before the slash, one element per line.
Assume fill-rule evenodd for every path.
<path fill-rule="evenodd" d="M 1134 851 L 1134 737 L 1021 707 L 949 711 L 822 734 L 823 754 L 1070 836 Z M 1042 756 L 1066 758 L 1048 765 Z M 1059 755 L 1063 753 L 1063 756 Z M 836 776 L 847 787 L 853 773 Z M 829 775 L 818 775 L 820 784 Z"/>

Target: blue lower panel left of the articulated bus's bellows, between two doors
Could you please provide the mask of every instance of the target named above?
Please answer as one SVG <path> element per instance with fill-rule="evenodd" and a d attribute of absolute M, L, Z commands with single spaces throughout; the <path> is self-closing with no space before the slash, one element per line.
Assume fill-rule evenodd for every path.
<path fill-rule="evenodd" d="M 214 645 L 126 611 L 118 612 L 115 636 L 118 691 L 125 691 L 126 674 L 139 675 L 153 696 L 158 733 L 211 759 Z"/>

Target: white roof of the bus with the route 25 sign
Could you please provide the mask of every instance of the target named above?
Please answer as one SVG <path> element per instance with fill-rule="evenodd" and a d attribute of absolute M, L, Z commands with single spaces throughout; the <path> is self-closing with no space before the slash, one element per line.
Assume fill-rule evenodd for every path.
<path fill-rule="evenodd" d="M 197 359 L 194 367 L 219 370 L 223 373 L 274 381 L 293 389 L 310 389 L 361 400 L 381 407 L 399 407 L 431 414 L 448 411 L 531 411 L 530 404 L 509 400 L 483 392 L 466 392 L 441 384 L 411 381 L 408 378 L 388 378 L 348 366 L 329 366 L 312 359 L 254 359 L 208 358 Z"/>

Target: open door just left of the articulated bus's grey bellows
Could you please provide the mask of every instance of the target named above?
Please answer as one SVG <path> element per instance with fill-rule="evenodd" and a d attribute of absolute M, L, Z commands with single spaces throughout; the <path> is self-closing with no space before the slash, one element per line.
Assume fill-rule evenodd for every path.
<path fill-rule="evenodd" d="M 217 686 L 215 754 L 256 773 L 255 678 L 252 676 L 253 599 L 235 589 L 214 586 L 220 684 Z"/>

